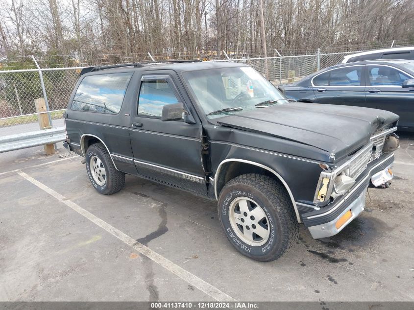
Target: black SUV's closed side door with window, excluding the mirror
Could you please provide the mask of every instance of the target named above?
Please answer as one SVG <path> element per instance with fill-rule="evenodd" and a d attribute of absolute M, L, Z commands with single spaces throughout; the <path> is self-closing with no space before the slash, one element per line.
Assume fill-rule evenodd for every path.
<path fill-rule="evenodd" d="M 145 72 L 131 114 L 130 137 L 134 164 L 139 175 L 206 194 L 205 172 L 201 160 L 202 126 L 186 123 L 184 118 L 162 121 L 166 104 L 183 102 L 187 111 L 189 99 L 184 98 L 181 82 L 175 72 Z M 195 116 L 195 115 L 194 115 Z"/>

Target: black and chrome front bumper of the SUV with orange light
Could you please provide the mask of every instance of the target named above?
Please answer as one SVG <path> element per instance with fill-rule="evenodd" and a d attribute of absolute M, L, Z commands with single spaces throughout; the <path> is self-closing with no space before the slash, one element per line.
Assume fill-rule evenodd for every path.
<path fill-rule="evenodd" d="M 382 156 L 371 162 L 365 171 L 358 177 L 357 183 L 345 196 L 327 206 L 302 215 L 302 221 L 308 227 L 313 238 L 325 238 L 338 234 L 348 223 L 361 214 L 365 209 L 365 192 L 369 180 L 375 173 L 390 167 L 394 161 L 394 154 Z M 348 211 L 351 216 L 337 227 L 337 222 Z M 347 214 L 349 215 L 349 213 Z"/>

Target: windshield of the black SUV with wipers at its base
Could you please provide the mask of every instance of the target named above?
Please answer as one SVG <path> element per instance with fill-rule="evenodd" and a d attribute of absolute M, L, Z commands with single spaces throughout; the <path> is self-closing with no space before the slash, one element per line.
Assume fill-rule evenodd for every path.
<path fill-rule="evenodd" d="M 288 103 L 273 84 L 250 67 L 184 72 L 183 76 L 209 119 Z"/>

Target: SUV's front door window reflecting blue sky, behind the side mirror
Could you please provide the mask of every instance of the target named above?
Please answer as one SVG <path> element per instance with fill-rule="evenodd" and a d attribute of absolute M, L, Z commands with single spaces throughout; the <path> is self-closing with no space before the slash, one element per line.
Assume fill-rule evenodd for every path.
<path fill-rule="evenodd" d="M 178 103 L 167 80 L 148 80 L 141 82 L 138 99 L 138 115 L 161 118 L 163 106 Z"/>

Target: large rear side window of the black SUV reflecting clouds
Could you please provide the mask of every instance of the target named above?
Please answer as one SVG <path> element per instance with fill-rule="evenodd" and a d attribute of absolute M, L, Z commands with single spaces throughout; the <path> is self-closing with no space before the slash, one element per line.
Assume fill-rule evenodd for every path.
<path fill-rule="evenodd" d="M 133 73 L 85 76 L 72 101 L 72 110 L 118 114 Z"/>

